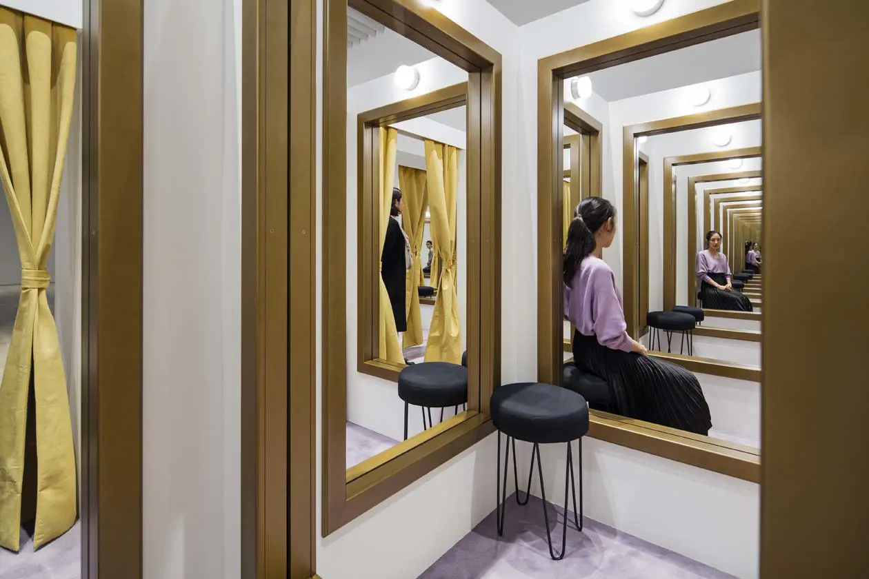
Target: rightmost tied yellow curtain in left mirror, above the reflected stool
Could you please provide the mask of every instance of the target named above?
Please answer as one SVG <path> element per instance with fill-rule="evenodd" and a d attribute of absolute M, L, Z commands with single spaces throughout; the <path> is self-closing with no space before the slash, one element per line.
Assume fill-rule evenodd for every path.
<path fill-rule="evenodd" d="M 426 140 L 428 206 L 434 249 L 441 279 L 428 331 L 426 362 L 461 363 L 459 299 L 455 288 L 456 195 L 459 189 L 459 149 Z M 432 267 L 434 272 L 434 266 Z"/>

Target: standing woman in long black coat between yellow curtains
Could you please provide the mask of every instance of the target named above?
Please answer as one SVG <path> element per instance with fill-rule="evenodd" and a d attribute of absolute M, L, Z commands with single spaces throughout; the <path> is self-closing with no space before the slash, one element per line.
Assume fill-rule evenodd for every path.
<path fill-rule="evenodd" d="M 401 229 L 398 216 L 404 207 L 401 201 L 401 190 L 393 188 L 392 207 L 389 209 L 389 220 L 386 228 L 386 238 L 383 240 L 381 253 L 381 277 L 392 313 L 395 316 L 395 329 L 398 332 L 408 331 L 408 314 L 405 299 L 405 276 L 410 267 L 411 253 L 408 236 Z"/>

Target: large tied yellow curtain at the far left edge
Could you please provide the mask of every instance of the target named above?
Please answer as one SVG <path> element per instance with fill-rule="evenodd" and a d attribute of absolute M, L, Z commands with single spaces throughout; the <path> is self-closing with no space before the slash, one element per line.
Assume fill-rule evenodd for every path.
<path fill-rule="evenodd" d="M 76 31 L 0 8 L 0 176 L 22 266 L 21 297 L 0 383 L 0 546 L 13 551 L 19 549 L 22 516 L 30 515 L 22 510 L 22 495 L 29 491 L 23 490 L 23 472 L 31 387 L 39 457 L 34 548 L 76 521 L 70 400 L 45 269 L 75 84 Z"/>

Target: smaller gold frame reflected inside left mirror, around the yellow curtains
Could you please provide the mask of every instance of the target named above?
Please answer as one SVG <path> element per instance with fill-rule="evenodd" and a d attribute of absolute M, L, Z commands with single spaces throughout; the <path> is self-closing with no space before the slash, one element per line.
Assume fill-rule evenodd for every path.
<path fill-rule="evenodd" d="M 358 148 L 357 158 L 357 198 L 358 211 L 357 236 L 360 240 L 357 251 L 359 264 L 356 272 L 358 280 L 356 289 L 357 324 L 356 324 L 356 370 L 369 376 L 398 382 L 398 374 L 404 365 L 395 365 L 378 355 L 378 326 L 380 316 L 380 219 L 379 207 L 380 175 L 377 172 L 377 161 L 380 151 L 377 129 L 395 122 L 408 121 L 421 116 L 464 107 L 468 103 L 468 82 L 460 82 L 444 89 L 434 90 L 425 95 L 415 96 L 404 101 L 393 102 L 377 109 L 372 109 L 356 115 L 356 137 Z M 471 112 L 470 110 L 468 111 Z M 479 110 L 475 109 L 474 114 Z M 479 124 L 479 118 L 468 119 L 467 126 Z M 401 133 L 401 131 L 399 131 Z M 468 143 L 470 145 L 471 143 Z M 476 151 L 466 149 L 466 158 L 479 158 Z M 466 171 L 470 179 L 472 171 Z M 375 184 L 376 183 L 376 184 Z M 471 188 L 468 188 L 470 191 Z M 478 200 L 477 200 L 478 201 Z M 468 196 L 468 208 L 474 200 Z M 468 211 L 470 214 L 470 211 Z M 426 220 L 428 223 L 429 220 Z M 470 225 L 470 224 L 468 224 Z M 479 237 L 468 227 L 468 238 Z M 440 263 L 440 261 L 438 262 Z M 461 276 L 460 276 L 461 277 Z M 468 384 L 468 397 L 479 398 L 474 390 L 477 384 Z M 354 472 L 365 472 L 365 463 L 357 464 Z M 352 480 L 355 476 L 349 478 Z"/>

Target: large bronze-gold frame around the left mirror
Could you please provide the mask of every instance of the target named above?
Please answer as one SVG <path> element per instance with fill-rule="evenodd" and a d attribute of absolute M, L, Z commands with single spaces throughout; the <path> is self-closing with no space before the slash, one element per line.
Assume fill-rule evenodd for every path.
<path fill-rule="evenodd" d="M 347 470 L 347 9 L 468 71 L 468 411 Z M 326 0 L 323 78 L 322 534 L 494 431 L 501 372 L 501 55 L 419 0 Z M 309 339 L 309 336 L 306 336 Z"/>

